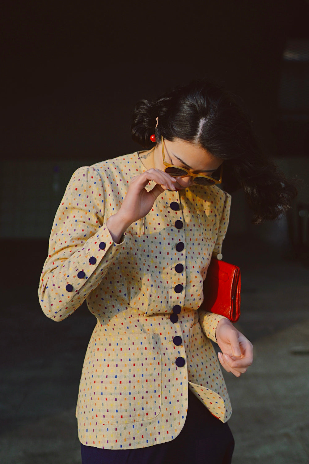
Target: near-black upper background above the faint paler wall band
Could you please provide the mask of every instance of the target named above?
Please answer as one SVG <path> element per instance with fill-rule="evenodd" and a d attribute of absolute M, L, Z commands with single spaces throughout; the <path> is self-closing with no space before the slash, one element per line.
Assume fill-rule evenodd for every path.
<path fill-rule="evenodd" d="M 6 2 L 1 16 L 5 159 L 135 150 L 134 103 L 201 76 L 239 95 L 280 155 L 282 57 L 287 39 L 308 38 L 306 0 Z"/>

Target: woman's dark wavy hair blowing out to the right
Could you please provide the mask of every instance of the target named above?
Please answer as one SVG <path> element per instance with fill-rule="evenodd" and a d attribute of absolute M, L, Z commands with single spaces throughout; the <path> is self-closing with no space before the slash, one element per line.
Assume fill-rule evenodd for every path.
<path fill-rule="evenodd" d="M 156 118 L 158 117 L 158 126 Z M 289 207 L 297 190 L 264 155 L 249 116 L 232 95 L 206 80 L 179 86 L 156 101 L 141 100 L 132 116 L 132 139 L 144 148 L 161 143 L 161 135 L 195 143 L 224 160 L 222 188 L 243 188 L 259 224 L 276 219 Z M 156 142 L 150 141 L 155 133 Z"/>

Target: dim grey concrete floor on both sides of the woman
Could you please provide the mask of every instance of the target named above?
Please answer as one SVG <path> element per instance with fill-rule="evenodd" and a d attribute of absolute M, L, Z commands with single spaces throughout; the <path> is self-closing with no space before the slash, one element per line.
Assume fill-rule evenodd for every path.
<path fill-rule="evenodd" d="M 237 325 L 253 342 L 255 359 L 239 379 L 225 374 L 233 464 L 308 464 L 308 261 L 236 241 L 226 241 L 224 259 L 241 266 Z M 34 279 L 11 283 L 3 301 L 0 463 L 80 464 L 75 405 L 95 318 L 82 306 L 61 324 L 50 321 L 36 287 Z"/>

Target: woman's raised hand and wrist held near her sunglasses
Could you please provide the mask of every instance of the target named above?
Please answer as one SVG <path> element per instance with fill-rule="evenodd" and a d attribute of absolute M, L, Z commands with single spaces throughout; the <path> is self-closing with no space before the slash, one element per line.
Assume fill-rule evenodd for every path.
<path fill-rule="evenodd" d="M 150 180 L 156 182 L 156 185 L 147 192 L 145 187 Z M 175 182 L 177 180 L 170 174 L 156 168 L 132 177 L 120 210 L 107 220 L 107 228 L 114 242 L 119 243 L 130 224 L 149 213 L 160 193 L 164 190 L 175 190 Z"/>

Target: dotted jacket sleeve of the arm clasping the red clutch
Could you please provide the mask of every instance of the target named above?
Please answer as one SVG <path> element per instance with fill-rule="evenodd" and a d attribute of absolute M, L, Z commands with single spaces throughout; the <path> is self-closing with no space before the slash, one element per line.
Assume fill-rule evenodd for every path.
<path fill-rule="evenodd" d="M 227 226 L 230 217 L 230 208 L 231 208 L 231 195 L 225 193 L 224 203 L 222 207 L 222 215 L 220 218 L 219 228 L 218 228 L 218 235 L 214 245 L 214 250 L 212 253 L 213 258 L 217 258 L 219 254 L 221 254 L 222 250 L 222 242 L 227 233 Z M 220 257 L 222 258 L 222 256 Z M 206 275 L 207 276 L 207 275 Z M 203 309 L 203 304 L 199 308 L 199 321 L 202 327 L 204 334 L 210 338 L 213 342 L 216 342 L 216 328 L 217 324 L 221 319 L 226 319 L 225 316 L 221 316 L 219 314 L 214 314 L 206 311 Z"/>

